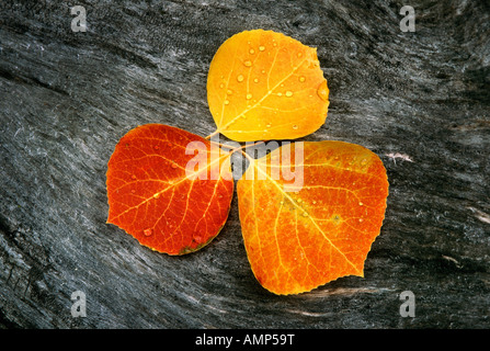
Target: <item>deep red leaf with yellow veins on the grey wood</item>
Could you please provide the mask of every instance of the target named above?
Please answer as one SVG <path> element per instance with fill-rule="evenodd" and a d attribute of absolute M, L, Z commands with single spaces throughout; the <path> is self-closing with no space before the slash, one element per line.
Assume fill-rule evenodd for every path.
<path fill-rule="evenodd" d="M 194 162 L 200 155 L 202 162 Z M 132 129 L 115 147 L 106 176 L 107 223 L 153 250 L 195 251 L 228 217 L 233 194 L 229 155 L 192 133 L 160 124 Z"/>

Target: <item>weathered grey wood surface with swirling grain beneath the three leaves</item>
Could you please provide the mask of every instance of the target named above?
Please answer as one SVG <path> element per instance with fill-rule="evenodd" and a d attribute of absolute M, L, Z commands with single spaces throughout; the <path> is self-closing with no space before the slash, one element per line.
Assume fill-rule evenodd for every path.
<path fill-rule="evenodd" d="M 70 29 L 75 4 L 84 33 Z M 413 33 L 400 31 L 403 4 L 2 1 L 0 327 L 489 328 L 489 3 L 412 1 Z M 105 224 L 118 138 L 145 123 L 214 132 L 209 63 L 257 27 L 318 47 L 331 105 L 305 140 L 356 143 L 386 165 L 386 220 L 364 279 L 267 293 L 236 196 L 220 235 L 185 257 Z M 70 314 L 75 291 L 84 318 Z M 415 317 L 400 316 L 403 291 Z"/>

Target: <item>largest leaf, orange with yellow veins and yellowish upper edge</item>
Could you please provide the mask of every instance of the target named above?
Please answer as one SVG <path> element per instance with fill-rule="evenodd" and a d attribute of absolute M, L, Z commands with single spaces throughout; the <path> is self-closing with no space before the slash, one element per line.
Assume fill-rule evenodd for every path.
<path fill-rule="evenodd" d="M 363 276 L 388 196 L 386 170 L 368 149 L 343 141 L 294 145 L 290 161 L 281 156 L 271 165 L 283 146 L 254 160 L 237 184 L 252 271 L 275 294 Z M 286 180 L 289 169 L 300 182 Z"/>

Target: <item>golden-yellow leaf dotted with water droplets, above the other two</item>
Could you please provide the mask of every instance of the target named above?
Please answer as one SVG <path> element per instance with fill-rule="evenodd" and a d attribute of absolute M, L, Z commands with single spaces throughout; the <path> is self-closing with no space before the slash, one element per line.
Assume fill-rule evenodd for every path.
<path fill-rule="evenodd" d="M 207 100 L 217 132 L 238 141 L 293 139 L 327 117 L 317 49 L 272 31 L 241 32 L 210 63 Z"/>

